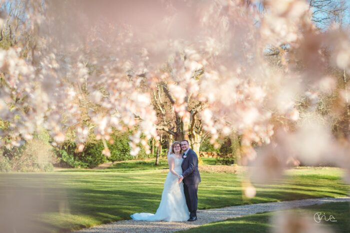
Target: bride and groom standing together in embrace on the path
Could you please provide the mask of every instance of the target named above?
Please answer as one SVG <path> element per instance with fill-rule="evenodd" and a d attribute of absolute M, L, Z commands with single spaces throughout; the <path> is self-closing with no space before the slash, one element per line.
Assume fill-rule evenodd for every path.
<path fill-rule="evenodd" d="M 182 155 L 181 155 L 182 154 Z M 169 172 L 156 213 L 136 213 L 137 221 L 196 221 L 197 191 L 200 183 L 198 158 L 187 140 L 172 143 L 167 155 Z"/>

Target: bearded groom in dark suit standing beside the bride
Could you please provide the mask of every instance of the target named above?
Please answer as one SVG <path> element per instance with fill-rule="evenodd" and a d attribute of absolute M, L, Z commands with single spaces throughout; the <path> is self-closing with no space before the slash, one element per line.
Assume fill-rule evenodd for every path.
<path fill-rule="evenodd" d="M 189 211 L 189 219 L 192 222 L 197 220 L 197 191 L 200 183 L 198 171 L 198 158 L 194 151 L 189 148 L 187 140 L 181 142 L 182 154 L 182 175 L 178 177 L 178 182 L 183 180 L 183 192 Z"/>

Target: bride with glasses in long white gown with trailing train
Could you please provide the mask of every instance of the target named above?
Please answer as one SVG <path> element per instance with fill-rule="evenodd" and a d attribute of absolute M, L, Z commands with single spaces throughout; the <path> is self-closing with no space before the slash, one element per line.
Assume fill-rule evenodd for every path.
<path fill-rule="evenodd" d="M 183 194 L 183 183 L 178 183 L 178 177 L 182 174 L 181 169 L 181 146 L 175 141 L 167 155 L 169 173 L 166 176 L 161 201 L 156 213 L 136 213 L 131 219 L 137 221 L 187 221 L 189 218 L 186 200 Z"/>

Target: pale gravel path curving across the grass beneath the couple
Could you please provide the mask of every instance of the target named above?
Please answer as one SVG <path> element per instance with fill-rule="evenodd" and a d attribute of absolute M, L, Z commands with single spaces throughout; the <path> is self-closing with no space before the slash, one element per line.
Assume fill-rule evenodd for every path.
<path fill-rule="evenodd" d="M 220 209 L 210 210 L 198 210 L 198 220 L 195 222 L 143 222 L 124 220 L 110 224 L 104 224 L 95 226 L 88 229 L 82 229 L 78 232 L 81 233 L 105 233 L 105 232 L 118 232 L 118 233 L 163 233 L 163 232 L 176 232 L 180 230 L 186 230 L 190 228 L 199 227 L 203 224 L 211 222 L 223 221 L 226 219 L 232 219 L 242 217 L 246 215 L 277 211 L 284 209 L 291 209 L 303 206 L 320 205 L 330 202 L 350 202 L 350 197 L 346 198 L 317 198 L 317 199 L 305 199 L 287 202 L 270 202 L 244 206 L 232 206 Z"/>

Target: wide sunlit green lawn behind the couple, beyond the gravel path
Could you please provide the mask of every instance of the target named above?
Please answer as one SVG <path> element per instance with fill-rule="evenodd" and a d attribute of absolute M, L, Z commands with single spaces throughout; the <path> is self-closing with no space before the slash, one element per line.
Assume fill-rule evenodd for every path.
<path fill-rule="evenodd" d="M 212 162 L 212 159 L 208 161 Z M 45 224 L 44 231 L 51 232 L 129 219 L 130 214 L 136 212 L 154 213 L 167 174 L 164 162 L 166 163 L 162 161 L 157 169 L 152 165 L 154 161 L 132 161 L 117 163 L 113 168 L 101 170 L 0 173 L 0 205 L 5 200 L 4 203 L 10 209 L 8 203 L 18 207 L 19 214 L 16 218 L 25 213 L 21 205 L 26 206 L 30 213 L 37 213 L 40 223 Z M 258 186 L 256 197 L 246 199 L 242 197 L 241 188 L 244 176 L 201 173 L 198 209 L 316 197 L 344 197 L 348 194 L 349 186 L 342 183 L 341 175 L 342 171 L 337 168 L 292 169 L 286 172 L 285 179 L 271 185 Z M 22 200 L 18 202 L 19 199 Z M 1 206 L 0 213 L 5 210 Z M 8 213 L 5 216 L 9 216 Z"/>

